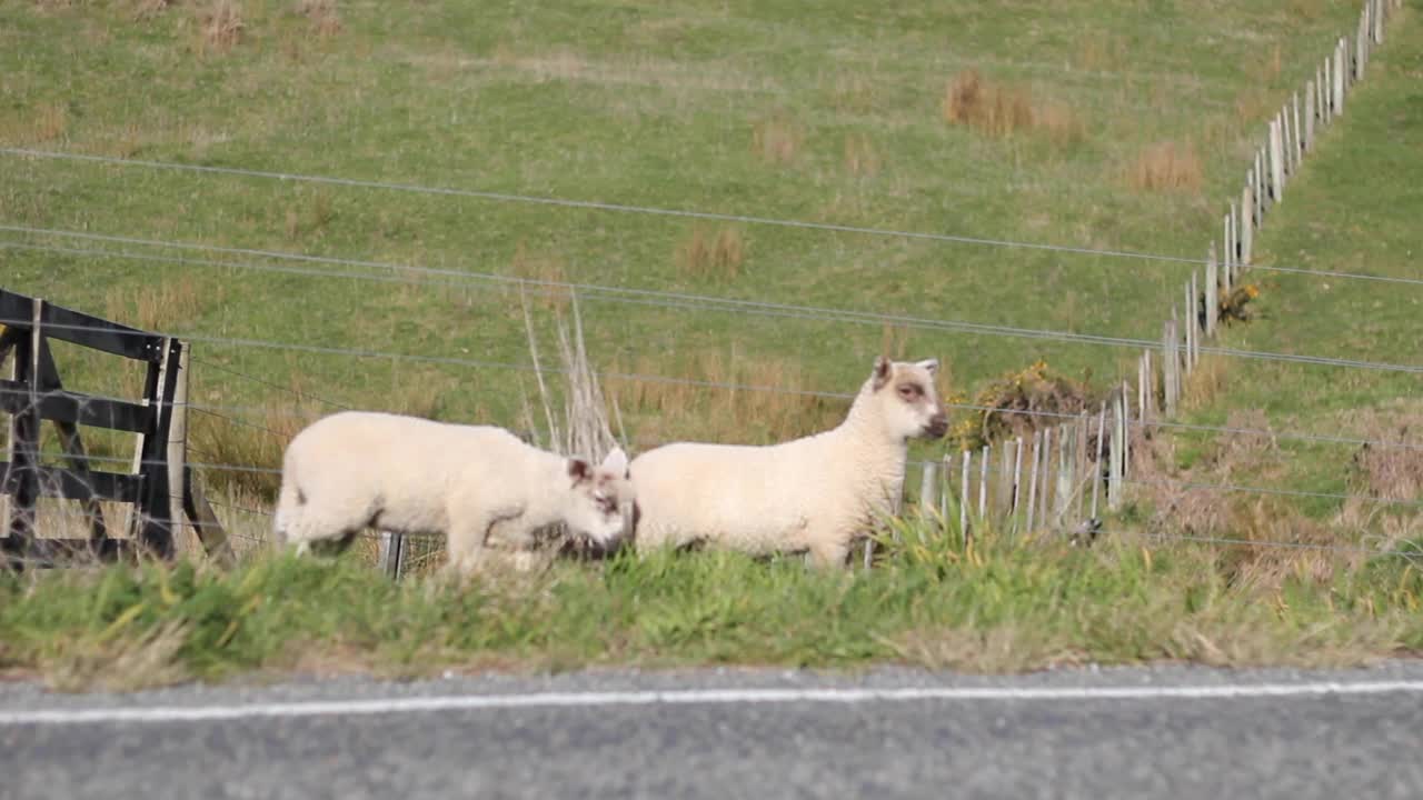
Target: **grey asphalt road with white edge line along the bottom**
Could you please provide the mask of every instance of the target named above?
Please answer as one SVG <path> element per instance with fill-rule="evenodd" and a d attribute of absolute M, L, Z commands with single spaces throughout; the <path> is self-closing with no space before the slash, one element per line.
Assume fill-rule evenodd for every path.
<path fill-rule="evenodd" d="M 1420 797 L 1420 753 L 1423 665 L 1407 662 L 0 685 L 6 800 Z"/>

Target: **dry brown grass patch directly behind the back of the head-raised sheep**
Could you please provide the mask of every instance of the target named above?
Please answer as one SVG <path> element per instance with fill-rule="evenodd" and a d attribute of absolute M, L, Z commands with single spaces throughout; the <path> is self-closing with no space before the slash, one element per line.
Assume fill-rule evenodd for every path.
<path fill-rule="evenodd" d="M 662 359 L 642 356 L 630 366 L 615 362 L 609 373 L 669 379 L 609 377 L 605 381 L 608 397 L 635 428 L 635 450 L 682 440 L 736 444 L 785 441 L 840 424 L 850 409 L 848 400 L 797 394 L 808 390 L 797 360 L 746 357 L 736 349 L 730 353 L 703 350 L 680 369 L 669 367 Z M 777 387 L 777 391 L 709 387 L 704 383 Z"/>

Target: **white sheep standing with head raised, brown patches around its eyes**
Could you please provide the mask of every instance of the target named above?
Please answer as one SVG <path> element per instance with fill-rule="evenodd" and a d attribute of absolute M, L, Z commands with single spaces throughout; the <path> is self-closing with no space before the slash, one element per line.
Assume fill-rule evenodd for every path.
<path fill-rule="evenodd" d="M 911 437 L 941 437 L 939 362 L 875 359 L 845 421 L 768 447 L 677 443 L 633 458 L 639 551 L 707 544 L 842 565 L 894 510 Z"/>

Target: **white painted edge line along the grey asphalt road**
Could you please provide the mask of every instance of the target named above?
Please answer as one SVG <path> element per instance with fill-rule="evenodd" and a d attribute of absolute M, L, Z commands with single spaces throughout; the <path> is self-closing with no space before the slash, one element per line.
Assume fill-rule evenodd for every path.
<path fill-rule="evenodd" d="M 1214 700 L 1423 693 L 1423 680 L 1227 683 L 1217 686 L 1039 686 L 911 689 L 682 689 L 669 692 L 538 692 L 377 700 L 297 700 L 221 706 L 149 706 L 0 712 L 0 726 L 182 723 L 497 709 L 572 709 L 650 705 L 871 703 L 980 700 Z"/>

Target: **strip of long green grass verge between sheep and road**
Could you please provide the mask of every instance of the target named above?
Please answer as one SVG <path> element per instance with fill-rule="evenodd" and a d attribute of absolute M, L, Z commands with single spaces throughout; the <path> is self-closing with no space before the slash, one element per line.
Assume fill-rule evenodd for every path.
<path fill-rule="evenodd" d="M 966 548 L 924 521 L 901 535 L 854 574 L 706 552 L 465 586 L 393 584 L 359 558 L 4 577 L 0 670 L 127 689 L 293 670 L 1355 665 L 1423 645 L 1423 574 L 1403 558 L 1124 540 Z"/>

